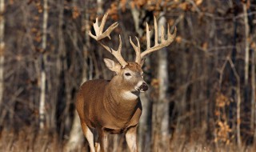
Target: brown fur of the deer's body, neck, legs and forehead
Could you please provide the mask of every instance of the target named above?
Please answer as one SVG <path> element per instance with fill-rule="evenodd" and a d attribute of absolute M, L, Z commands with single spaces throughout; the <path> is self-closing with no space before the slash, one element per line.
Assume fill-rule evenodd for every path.
<path fill-rule="evenodd" d="M 134 72 L 134 80 L 129 82 L 123 80 L 124 71 L 127 69 Z M 138 80 L 143 80 L 141 73 L 141 66 L 129 62 L 111 81 L 90 80 L 80 87 L 76 108 L 83 133 L 85 136 L 90 136 L 88 130 L 96 129 L 102 151 L 106 150 L 106 134 L 120 133 L 126 133 L 130 150 L 137 151 L 136 129 L 142 114 L 142 103 L 139 98 L 127 100 L 122 97 L 122 93 L 131 90 Z M 94 151 L 92 147 L 90 149 Z"/>

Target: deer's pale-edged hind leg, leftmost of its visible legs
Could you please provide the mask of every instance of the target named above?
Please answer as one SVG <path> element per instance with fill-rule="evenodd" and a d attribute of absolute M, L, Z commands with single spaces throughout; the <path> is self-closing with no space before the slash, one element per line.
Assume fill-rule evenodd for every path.
<path fill-rule="evenodd" d="M 94 134 L 93 131 L 86 125 L 86 122 L 81 121 L 82 132 L 86 136 L 87 141 L 89 142 L 90 152 L 95 152 L 94 149 Z"/>

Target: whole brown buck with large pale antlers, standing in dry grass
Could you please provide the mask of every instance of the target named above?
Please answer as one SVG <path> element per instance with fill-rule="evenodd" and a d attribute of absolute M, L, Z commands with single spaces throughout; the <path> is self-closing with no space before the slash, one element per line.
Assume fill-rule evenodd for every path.
<path fill-rule="evenodd" d="M 158 43 L 158 24 L 154 17 L 154 46 L 150 46 L 150 30 L 146 23 L 146 50 L 142 51 L 140 42 L 134 44 L 130 37 L 130 44 L 135 50 L 135 62 L 126 62 L 122 58 L 122 39 L 119 34 L 118 50 L 106 46 L 101 40 L 110 38 L 110 33 L 118 26 L 114 22 L 104 32 L 108 14 L 104 14 L 102 22 L 98 25 L 98 18 L 94 22 L 95 35 L 89 32 L 102 47 L 117 59 L 118 62 L 110 58 L 104 58 L 106 67 L 115 73 L 111 80 L 96 79 L 82 83 L 75 102 L 76 110 L 80 118 L 82 132 L 89 142 L 90 151 L 107 151 L 108 134 L 125 134 L 127 145 L 132 152 L 138 151 L 137 128 L 139 118 L 142 114 L 142 103 L 139 95 L 148 90 L 148 85 L 143 79 L 142 66 L 146 54 L 150 54 L 163 47 L 169 46 L 176 36 L 170 34 L 168 25 L 167 35 L 161 28 L 161 42 Z M 167 38 L 165 38 L 167 37 Z M 98 139 L 94 139 L 94 130 Z M 96 141 L 96 142 L 94 142 Z"/>

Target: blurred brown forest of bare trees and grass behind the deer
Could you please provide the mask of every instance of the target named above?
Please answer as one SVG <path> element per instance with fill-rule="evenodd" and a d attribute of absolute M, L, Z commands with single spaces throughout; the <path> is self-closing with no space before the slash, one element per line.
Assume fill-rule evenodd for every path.
<path fill-rule="evenodd" d="M 106 27 L 119 23 L 106 44 L 121 34 L 127 61 L 154 15 L 178 31 L 143 67 L 140 151 L 256 150 L 255 0 L 0 0 L 0 151 L 88 151 L 75 94 L 113 76 L 88 35 L 106 12 Z M 123 135 L 110 140 L 128 151 Z"/>

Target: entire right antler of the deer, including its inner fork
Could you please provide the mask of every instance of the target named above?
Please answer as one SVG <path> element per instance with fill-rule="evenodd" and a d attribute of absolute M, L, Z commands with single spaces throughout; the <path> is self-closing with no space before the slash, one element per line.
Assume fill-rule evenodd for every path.
<path fill-rule="evenodd" d="M 138 46 L 135 46 L 134 42 L 132 42 L 131 38 L 130 38 L 130 43 L 134 47 L 134 50 L 136 52 L 135 62 L 140 64 L 141 59 L 146 54 L 150 54 L 151 52 L 153 52 L 155 50 L 160 50 L 163 47 L 169 46 L 170 43 L 174 41 L 174 38 L 176 37 L 176 32 L 177 32 L 177 29 L 175 27 L 174 34 L 170 34 L 170 26 L 168 24 L 167 39 L 165 39 L 165 34 L 164 34 L 165 30 L 164 30 L 164 27 L 161 26 L 161 42 L 158 44 L 158 23 L 157 23 L 156 18 L 154 17 L 154 46 L 153 47 L 150 47 L 150 30 L 149 30 L 149 26 L 147 23 L 146 23 L 146 50 L 145 51 L 140 53 L 140 45 L 138 42 L 138 38 L 136 38 L 137 42 L 138 42 Z"/>

